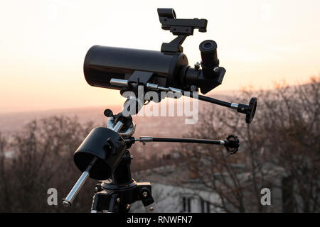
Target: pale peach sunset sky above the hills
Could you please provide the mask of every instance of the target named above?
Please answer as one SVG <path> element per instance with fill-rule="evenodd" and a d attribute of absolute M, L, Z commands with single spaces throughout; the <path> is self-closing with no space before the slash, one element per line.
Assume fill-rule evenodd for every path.
<path fill-rule="evenodd" d="M 208 32 L 196 30 L 183 52 L 193 66 L 201 41 L 218 43 L 227 72 L 213 92 L 320 73 L 319 0 L 0 0 L 0 113 L 120 104 L 119 91 L 85 82 L 85 54 L 92 45 L 160 50 L 174 35 L 161 29 L 159 7 L 208 19 Z"/>

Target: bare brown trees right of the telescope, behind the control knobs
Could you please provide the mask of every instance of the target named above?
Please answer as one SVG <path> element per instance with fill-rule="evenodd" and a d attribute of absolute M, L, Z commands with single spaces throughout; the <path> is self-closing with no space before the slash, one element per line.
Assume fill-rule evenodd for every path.
<path fill-rule="evenodd" d="M 244 100 L 250 96 L 252 92 L 242 94 Z M 183 183 L 218 194 L 220 201 L 213 205 L 227 212 L 319 211 L 319 78 L 255 96 L 257 113 L 250 125 L 229 110 L 203 111 L 193 133 L 186 136 L 223 138 L 235 133 L 240 151 L 229 155 L 209 145 L 181 145 L 177 152 L 183 161 L 177 165 L 190 173 Z M 286 177 L 292 184 L 283 181 Z M 283 202 L 291 210 L 280 203 L 262 206 L 263 187 L 290 192 Z"/>

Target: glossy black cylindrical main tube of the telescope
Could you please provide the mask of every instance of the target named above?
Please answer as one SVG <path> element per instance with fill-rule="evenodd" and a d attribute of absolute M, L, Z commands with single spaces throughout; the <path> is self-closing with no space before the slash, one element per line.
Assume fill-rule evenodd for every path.
<path fill-rule="evenodd" d="M 184 88 L 183 66 L 188 66 L 188 59 L 181 52 L 164 54 L 154 50 L 95 45 L 85 56 L 83 71 L 87 83 L 95 87 L 121 89 L 110 84 L 110 79 L 129 79 L 134 71 L 142 71 L 154 72 L 151 82 L 159 86 Z"/>

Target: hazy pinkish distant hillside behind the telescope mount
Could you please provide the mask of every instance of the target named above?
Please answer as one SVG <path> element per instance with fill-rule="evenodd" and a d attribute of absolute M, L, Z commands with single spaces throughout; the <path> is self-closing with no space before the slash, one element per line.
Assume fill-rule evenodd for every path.
<path fill-rule="evenodd" d="M 232 96 L 215 95 L 217 99 L 223 99 L 225 101 L 233 101 Z M 173 101 L 173 99 L 171 99 Z M 179 99 L 177 99 L 179 101 Z M 177 101 L 174 101 L 174 109 L 176 110 Z M 199 101 L 199 110 L 203 109 L 207 104 L 203 101 Z M 159 104 L 155 104 L 159 105 Z M 21 131 L 23 126 L 34 119 L 47 118 L 50 116 L 68 116 L 77 117 L 80 123 L 87 121 L 93 121 L 95 126 L 105 126 L 107 118 L 103 115 L 103 111 L 106 109 L 112 109 L 114 114 L 119 113 L 122 110 L 122 106 L 98 106 L 87 107 L 78 109 L 60 109 L 54 111 L 35 111 L 35 112 L 23 112 L 23 113 L 11 113 L 0 114 L 0 131 L 4 135 L 10 135 Z M 172 108 L 172 105 L 171 105 Z M 216 107 L 220 108 L 220 107 Z M 169 106 L 167 106 L 169 109 Z M 161 110 L 159 106 L 159 111 Z M 176 115 L 176 114 L 175 114 Z M 155 137 L 182 137 L 188 131 L 193 129 L 192 124 L 185 123 L 184 116 L 134 116 L 134 123 L 136 124 L 135 137 L 139 136 L 155 136 Z M 146 156 L 157 154 L 161 155 L 167 153 L 175 143 L 148 143 L 145 148 L 148 150 Z M 144 146 L 141 143 L 134 145 L 134 152 L 142 153 Z"/>

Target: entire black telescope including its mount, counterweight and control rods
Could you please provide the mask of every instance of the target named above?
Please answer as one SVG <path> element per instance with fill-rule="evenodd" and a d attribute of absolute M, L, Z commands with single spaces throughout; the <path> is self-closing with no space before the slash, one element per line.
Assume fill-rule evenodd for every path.
<path fill-rule="evenodd" d="M 192 95 L 194 99 L 235 109 L 245 114 L 246 123 L 252 122 L 257 108 L 255 97 L 249 104 L 236 104 L 198 94 L 199 90 L 206 94 L 218 87 L 226 72 L 219 66 L 217 43 L 213 40 L 200 43 L 201 63 L 194 67 L 188 65 L 188 58 L 183 54 L 181 45 L 186 37 L 193 35 L 195 29 L 206 32 L 208 21 L 178 19 L 174 9 L 158 9 L 158 15 L 161 28 L 176 35 L 170 43 L 162 43 L 160 51 L 94 45 L 85 55 L 83 71 L 88 84 L 117 89 L 122 96 L 125 92 L 134 95 L 127 97 L 119 114 L 106 109 L 107 126 L 92 129 L 75 151 L 74 162 L 82 175 L 63 199 L 65 206 L 73 204 L 75 196 L 91 177 L 101 180 L 95 190 L 91 212 L 129 212 L 129 204 L 138 200 L 142 201 L 147 212 L 158 211 L 151 196 L 151 184 L 136 182 L 131 175 L 132 155 L 129 148 L 136 142 L 203 143 L 223 145 L 229 154 L 238 151 L 239 139 L 236 135 L 229 135 L 225 140 L 133 137 L 135 124 L 132 115 L 152 100 L 147 95 L 137 95 L 141 88 L 144 94 L 154 92 L 159 95 L 159 101 L 172 94 L 174 97 Z M 166 96 L 161 93 L 166 93 Z"/>

